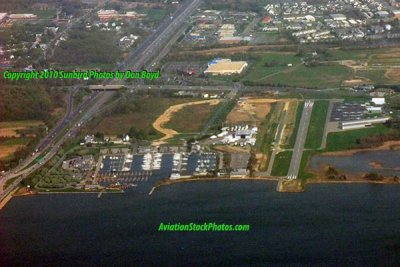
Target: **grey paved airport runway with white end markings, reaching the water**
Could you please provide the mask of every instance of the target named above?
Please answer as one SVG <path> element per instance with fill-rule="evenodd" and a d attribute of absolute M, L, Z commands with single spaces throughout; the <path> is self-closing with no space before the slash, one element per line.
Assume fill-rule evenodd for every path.
<path fill-rule="evenodd" d="M 293 148 L 292 159 L 290 161 L 289 171 L 287 175 L 287 178 L 289 180 L 296 179 L 299 174 L 301 158 L 304 151 L 304 143 L 306 142 L 307 138 L 308 126 L 310 124 L 313 105 L 313 100 L 306 100 L 304 102 L 304 109 L 301 115 L 299 130 L 297 131 L 296 136 L 296 144 Z"/>

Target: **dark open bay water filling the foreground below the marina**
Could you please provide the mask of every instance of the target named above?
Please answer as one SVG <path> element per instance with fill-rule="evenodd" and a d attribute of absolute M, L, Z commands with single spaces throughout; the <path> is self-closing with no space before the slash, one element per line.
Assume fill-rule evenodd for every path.
<path fill-rule="evenodd" d="M 0 266 L 398 266 L 400 186 L 273 182 L 164 186 L 151 196 L 38 195 L 0 212 Z M 163 223 L 249 232 L 158 232 Z"/>

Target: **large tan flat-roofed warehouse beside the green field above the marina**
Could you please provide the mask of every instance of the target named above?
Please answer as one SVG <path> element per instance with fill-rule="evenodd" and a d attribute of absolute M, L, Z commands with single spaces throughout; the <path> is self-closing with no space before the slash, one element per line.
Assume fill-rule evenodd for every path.
<path fill-rule="evenodd" d="M 205 74 L 231 75 L 240 74 L 247 67 L 246 61 L 231 61 L 230 59 L 215 59 L 208 63 Z"/>

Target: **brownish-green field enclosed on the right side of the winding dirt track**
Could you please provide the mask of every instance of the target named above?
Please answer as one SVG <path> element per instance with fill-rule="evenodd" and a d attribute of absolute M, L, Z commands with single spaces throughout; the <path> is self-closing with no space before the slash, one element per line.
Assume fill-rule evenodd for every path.
<path fill-rule="evenodd" d="M 217 105 L 210 103 L 185 106 L 173 114 L 164 127 L 179 133 L 198 133 L 210 119 Z"/>

